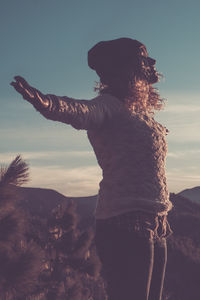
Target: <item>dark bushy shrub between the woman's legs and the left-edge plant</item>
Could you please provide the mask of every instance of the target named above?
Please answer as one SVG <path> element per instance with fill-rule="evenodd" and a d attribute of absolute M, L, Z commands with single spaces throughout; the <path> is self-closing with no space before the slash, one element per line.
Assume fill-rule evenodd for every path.
<path fill-rule="evenodd" d="M 94 299 L 93 285 L 100 264 L 94 251 L 93 231 L 81 232 L 73 202 L 53 209 L 49 218 L 33 218 L 28 239 L 45 251 L 40 288 L 46 299 Z"/>

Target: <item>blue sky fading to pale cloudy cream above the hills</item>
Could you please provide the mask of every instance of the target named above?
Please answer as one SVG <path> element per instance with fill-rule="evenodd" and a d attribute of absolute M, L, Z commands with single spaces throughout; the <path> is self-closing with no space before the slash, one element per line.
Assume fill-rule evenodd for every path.
<path fill-rule="evenodd" d="M 199 186 L 199 12 L 199 0 L 1 0 L 0 164 L 21 154 L 30 165 L 28 186 L 96 194 L 101 170 L 86 132 L 46 120 L 9 83 L 21 75 L 43 93 L 94 98 L 98 77 L 87 51 L 130 37 L 147 46 L 164 74 L 157 87 L 166 107 L 155 118 L 170 131 L 169 190 Z"/>

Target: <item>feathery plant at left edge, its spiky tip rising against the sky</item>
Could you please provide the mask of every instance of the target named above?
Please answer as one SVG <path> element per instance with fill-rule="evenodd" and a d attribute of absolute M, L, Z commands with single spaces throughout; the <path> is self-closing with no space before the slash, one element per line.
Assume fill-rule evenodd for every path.
<path fill-rule="evenodd" d="M 26 299 L 37 285 L 42 251 L 27 243 L 25 213 L 18 207 L 18 187 L 28 182 L 29 169 L 18 155 L 0 168 L 0 295 L 1 299 Z"/>

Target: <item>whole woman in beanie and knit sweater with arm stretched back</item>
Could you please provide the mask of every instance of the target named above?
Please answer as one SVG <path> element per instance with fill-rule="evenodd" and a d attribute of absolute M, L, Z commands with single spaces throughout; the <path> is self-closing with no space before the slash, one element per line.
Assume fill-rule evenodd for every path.
<path fill-rule="evenodd" d="M 165 177 L 167 129 L 153 118 L 162 99 L 155 60 L 130 38 L 88 52 L 99 95 L 44 95 L 22 77 L 11 85 L 47 119 L 85 129 L 103 171 L 96 209 L 97 251 L 109 300 L 161 300 L 171 230 Z"/>

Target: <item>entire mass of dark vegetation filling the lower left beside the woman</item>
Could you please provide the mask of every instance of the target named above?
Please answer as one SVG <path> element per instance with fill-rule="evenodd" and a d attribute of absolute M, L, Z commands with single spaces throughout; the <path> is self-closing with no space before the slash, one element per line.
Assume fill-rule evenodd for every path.
<path fill-rule="evenodd" d="M 27 181 L 28 166 L 20 156 L 1 168 L 1 299 L 98 299 L 93 230 L 80 229 L 73 201 L 55 203 L 46 215 L 35 203 L 40 212 L 32 214 L 28 199 L 20 198 L 19 185 Z"/>

